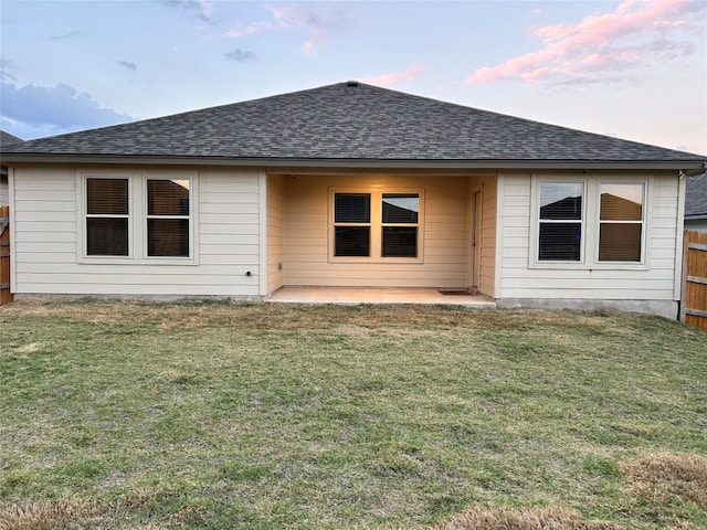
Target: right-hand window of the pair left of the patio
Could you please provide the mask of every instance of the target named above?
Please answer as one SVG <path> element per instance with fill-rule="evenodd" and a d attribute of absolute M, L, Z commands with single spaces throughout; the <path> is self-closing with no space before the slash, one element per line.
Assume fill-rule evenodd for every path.
<path fill-rule="evenodd" d="M 189 180 L 147 180 L 147 255 L 189 257 Z"/>

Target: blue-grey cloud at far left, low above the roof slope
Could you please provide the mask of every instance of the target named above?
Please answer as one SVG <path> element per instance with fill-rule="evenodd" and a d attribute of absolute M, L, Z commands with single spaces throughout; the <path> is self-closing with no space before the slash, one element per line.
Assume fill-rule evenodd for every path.
<path fill-rule="evenodd" d="M 101 107 L 88 94 L 59 83 L 54 87 L 2 83 L 2 118 L 32 127 L 84 129 L 130 121 L 134 118 Z"/>

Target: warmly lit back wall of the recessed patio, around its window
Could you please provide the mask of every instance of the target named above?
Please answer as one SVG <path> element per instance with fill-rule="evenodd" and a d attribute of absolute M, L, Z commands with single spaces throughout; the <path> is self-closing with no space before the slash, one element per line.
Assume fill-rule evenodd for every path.
<path fill-rule="evenodd" d="M 420 263 L 331 263 L 329 188 L 424 189 Z M 467 177 L 296 176 L 285 182 L 285 285 L 463 288 L 468 282 Z"/>

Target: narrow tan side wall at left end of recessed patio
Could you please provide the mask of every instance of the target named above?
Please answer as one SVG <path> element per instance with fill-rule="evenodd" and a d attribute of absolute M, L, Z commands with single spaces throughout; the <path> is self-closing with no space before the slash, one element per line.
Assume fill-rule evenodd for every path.
<path fill-rule="evenodd" d="M 267 177 L 267 286 L 273 293 L 285 283 L 285 180 L 283 176 Z"/>

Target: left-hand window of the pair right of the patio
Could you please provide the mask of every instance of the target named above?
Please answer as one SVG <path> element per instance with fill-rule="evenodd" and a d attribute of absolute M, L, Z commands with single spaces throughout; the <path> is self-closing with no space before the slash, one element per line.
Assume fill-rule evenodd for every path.
<path fill-rule="evenodd" d="M 539 261 L 581 261 L 583 191 L 580 182 L 540 183 Z"/>

